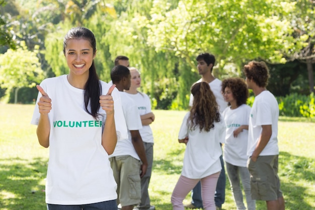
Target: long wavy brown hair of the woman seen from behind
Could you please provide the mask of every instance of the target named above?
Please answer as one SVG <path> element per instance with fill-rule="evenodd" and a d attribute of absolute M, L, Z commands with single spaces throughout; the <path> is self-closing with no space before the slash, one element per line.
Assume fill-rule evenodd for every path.
<path fill-rule="evenodd" d="M 195 83 L 190 92 L 194 96 L 193 105 L 190 109 L 190 129 L 199 126 L 200 131 L 210 131 L 214 127 L 214 121 L 220 121 L 220 114 L 215 96 L 206 82 Z"/>

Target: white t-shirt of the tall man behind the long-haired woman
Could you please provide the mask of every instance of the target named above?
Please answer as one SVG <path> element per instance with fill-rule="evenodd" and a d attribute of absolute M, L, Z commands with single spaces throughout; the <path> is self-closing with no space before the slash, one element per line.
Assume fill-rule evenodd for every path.
<path fill-rule="evenodd" d="M 198 80 L 196 83 L 200 83 L 202 79 Z M 224 101 L 223 95 L 221 93 L 222 82 L 215 78 L 212 82 L 209 83 L 210 89 L 215 96 L 216 103 L 219 106 L 219 111 L 222 113 L 224 109 L 227 107 L 227 102 Z M 189 106 L 193 105 L 194 96 L 190 94 Z"/>

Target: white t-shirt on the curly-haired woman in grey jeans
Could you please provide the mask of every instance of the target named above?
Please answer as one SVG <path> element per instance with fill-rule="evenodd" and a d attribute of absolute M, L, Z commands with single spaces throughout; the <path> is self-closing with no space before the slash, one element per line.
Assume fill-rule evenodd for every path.
<path fill-rule="evenodd" d="M 251 107 L 242 104 L 236 109 L 226 107 L 223 111 L 224 122 L 226 125 L 225 145 L 223 148 L 224 161 L 234 166 L 246 167 L 247 165 L 247 142 L 248 130 L 243 129 L 234 137 L 233 131 L 241 125 L 248 125 Z"/>

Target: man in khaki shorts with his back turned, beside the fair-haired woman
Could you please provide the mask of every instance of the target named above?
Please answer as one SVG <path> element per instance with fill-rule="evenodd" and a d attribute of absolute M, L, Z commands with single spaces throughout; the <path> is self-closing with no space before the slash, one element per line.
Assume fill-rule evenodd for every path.
<path fill-rule="evenodd" d="M 116 65 L 111 71 L 113 84 L 119 90 L 127 128 L 128 139 L 117 142 L 110 155 L 111 167 L 117 182 L 117 203 L 122 210 L 132 210 L 141 201 L 141 180 L 146 173 L 147 160 L 139 129 L 142 128 L 138 107 L 124 90 L 130 88 L 130 71 L 126 66 Z"/>

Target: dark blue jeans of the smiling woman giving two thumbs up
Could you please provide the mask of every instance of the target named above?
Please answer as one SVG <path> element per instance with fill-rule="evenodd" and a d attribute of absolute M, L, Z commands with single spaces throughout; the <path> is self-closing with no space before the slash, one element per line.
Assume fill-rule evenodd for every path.
<path fill-rule="evenodd" d="M 117 210 L 116 200 L 82 205 L 58 205 L 47 203 L 47 210 Z"/>

